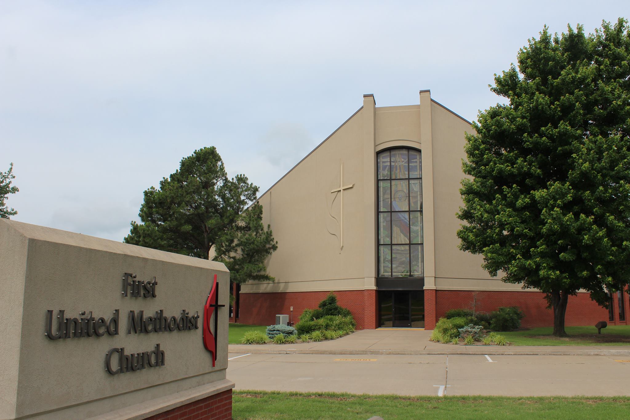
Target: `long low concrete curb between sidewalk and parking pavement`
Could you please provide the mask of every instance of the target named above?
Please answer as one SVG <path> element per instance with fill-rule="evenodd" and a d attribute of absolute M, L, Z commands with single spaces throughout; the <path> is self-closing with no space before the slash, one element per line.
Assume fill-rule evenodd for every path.
<path fill-rule="evenodd" d="M 255 345 L 232 347 L 230 353 L 265 355 L 520 355 L 520 356 L 630 356 L 630 350 L 518 350 L 485 347 L 484 349 L 433 350 L 356 350 L 356 349 L 278 349 L 256 348 Z"/>

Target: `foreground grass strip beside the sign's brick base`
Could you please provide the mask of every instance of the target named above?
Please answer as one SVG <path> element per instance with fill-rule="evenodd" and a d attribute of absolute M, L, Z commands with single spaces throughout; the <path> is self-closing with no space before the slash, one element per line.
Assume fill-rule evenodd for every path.
<path fill-rule="evenodd" d="M 234 419 L 622 419 L 630 397 L 401 397 L 234 391 Z"/>

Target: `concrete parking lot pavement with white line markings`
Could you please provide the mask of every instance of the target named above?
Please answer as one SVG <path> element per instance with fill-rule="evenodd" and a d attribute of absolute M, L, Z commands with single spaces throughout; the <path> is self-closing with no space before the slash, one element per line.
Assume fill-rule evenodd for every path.
<path fill-rule="evenodd" d="M 230 353 L 236 389 L 399 395 L 630 395 L 618 356 Z M 628 358 L 630 360 L 630 358 Z"/>

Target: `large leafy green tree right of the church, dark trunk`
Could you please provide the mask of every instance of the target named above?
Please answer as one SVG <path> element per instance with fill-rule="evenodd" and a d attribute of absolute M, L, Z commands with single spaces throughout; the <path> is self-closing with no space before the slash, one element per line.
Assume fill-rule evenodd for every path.
<path fill-rule="evenodd" d="M 568 297 L 606 307 L 630 281 L 630 30 L 619 19 L 539 38 L 495 75 L 508 99 L 466 136 L 461 249 L 546 293 L 555 336 Z"/>

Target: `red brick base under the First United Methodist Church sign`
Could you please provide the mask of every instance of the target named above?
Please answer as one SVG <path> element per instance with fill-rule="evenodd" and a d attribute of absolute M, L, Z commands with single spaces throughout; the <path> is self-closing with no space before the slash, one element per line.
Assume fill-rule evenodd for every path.
<path fill-rule="evenodd" d="M 164 411 L 146 420 L 231 420 L 232 390 L 210 395 L 190 404 Z"/>

